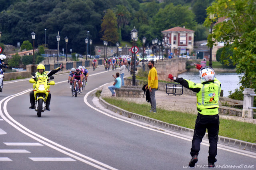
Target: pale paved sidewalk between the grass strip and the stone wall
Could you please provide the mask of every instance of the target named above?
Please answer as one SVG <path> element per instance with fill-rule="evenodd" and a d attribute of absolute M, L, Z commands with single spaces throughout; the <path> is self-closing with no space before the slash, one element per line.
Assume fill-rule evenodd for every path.
<path fill-rule="evenodd" d="M 108 89 L 108 86 L 113 85 L 114 81 L 112 83 L 108 83 L 106 86 L 103 87 L 101 97 L 111 97 L 111 92 Z M 132 101 L 138 104 L 148 104 L 146 101 L 146 98 L 119 98 L 116 97 L 116 99 L 123 99 L 126 101 Z M 166 109 L 168 111 L 180 111 L 184 113 L 191 113 L 191 114 L 197 114 L 197 108 L 196 108 L 196 96 L 190 96 L 190 95 L 168 95 L 165 91 L 156 91 L 156 108 Z M 229 120 L 236 120 L 240 122 L 247 122 L 247 123 L 254 123 L 256 124 L 256 119 L 248 119 L 248 118 L 242 118 L 242 117 L 236 117 L 236 116 L 228 116 L 228 115 L 219 115 L 221 119 L 229 119 Z"/>

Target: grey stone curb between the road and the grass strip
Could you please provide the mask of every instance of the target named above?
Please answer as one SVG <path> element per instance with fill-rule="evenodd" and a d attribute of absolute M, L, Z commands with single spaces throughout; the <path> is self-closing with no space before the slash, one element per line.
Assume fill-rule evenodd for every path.
<path fill-rule="evenodd" d="M 121 108 L 116 107 L 114 105 L 110 105 L 109 103 L 104 101 L 101 96 L 100 96 L 99 99 L 100 99 L 100 103 L 106 109 L 108 109 L 110 111 L 113 111 L 115 113 L 118 113 L 120 115 L 123 115 L 125 117 L 131 118 L 131 119 L 134 119 L 134 120 L 137 120 L 137 121 L 140 121 L 140 122 L 148 123 L 150 125 L 158 126 L 160 128 L 166 128 L 168 130 L 178 132 L 178 133 L 181 133 L 181 134 L 186 134 L 188 136 L 193 136 L 193 134 L 194 134 L 193 129 L 180 127 L 180 126 L 177 126 L 177 125 L 172 125 L 170 123 L 166 123 L 166 122 L 163 122 L 163 121 L 158 121 L 156 119 L 152 119 L 152 118 L 149 118 L 149 117 L 146 117 L 146 116 L 138 115 L 136 113 L 128 112 L 128 111 L 125 111 L 124 109 L 121 109 Z M 203 139 L 208 140 L 208 133 L 205 134 Z M 218 136 L 218 143 L 226 145 L 226 146 L 234 147 L 234 148 L 239 148 L 239 149 L 242 149 L 242 150 L 256 152 L 256 144 L 251 143 L 251 142 L 245 142 L 245 141 L 238 140 L 238 139 L 228 138 L 228 137 L 224 137 L 224 136 Z"/>

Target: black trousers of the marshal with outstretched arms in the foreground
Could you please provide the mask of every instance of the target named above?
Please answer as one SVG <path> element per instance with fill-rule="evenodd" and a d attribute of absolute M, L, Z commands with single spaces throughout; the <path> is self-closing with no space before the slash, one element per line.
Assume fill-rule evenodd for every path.
<path fill-rule="evenodd" d="M 200 144 L 207 128 L 210 143 L 208 162 L 214 164 L 217 161 L 215 156 L 217 155 L 219 125 L 219 115 L 202 115 L 198 113 L 192 139 L 191 156 L 198 155 Z"/>

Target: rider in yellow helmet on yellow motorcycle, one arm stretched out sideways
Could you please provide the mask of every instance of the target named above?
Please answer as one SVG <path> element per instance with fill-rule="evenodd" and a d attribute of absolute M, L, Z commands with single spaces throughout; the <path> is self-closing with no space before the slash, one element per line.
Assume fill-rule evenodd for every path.
<path fill-rule="evenodd" d="M 43 64 L 39 64 L 36 69 L 36 76 L 32 77 L 35 81 L 38 80 L 38 77 L 46 77 L 48 79 L 48 77 L 54 75 L 55 73 L 57 73 L 58 71 L 60 71 L 60 69 L 64 68 L 64 66 L 61 64 L 60 67 L 52 70 L 52 71 L 45 71 L 45 67 Z M 48 72 L 48 73 L 47 73 Z M 35 109 L 35 97 L 34 97 L 34 91 L 31 91 L 29 93 L 29 97 L 30 97 L 30 104 L 31 106 L 29 107 L 29 109 Z M 50 101 L 51 101 L 51 93 L 49 92 L 48 97 L 46 99 L 46 107 L 45 109 L 50 111 Z"/>

